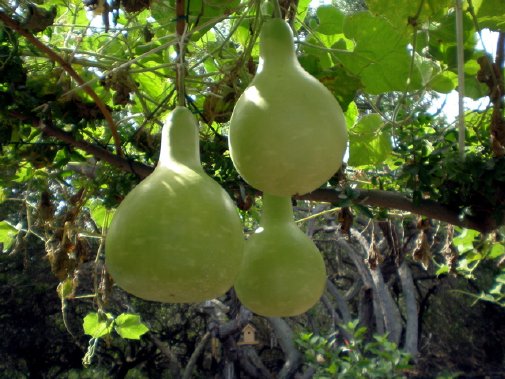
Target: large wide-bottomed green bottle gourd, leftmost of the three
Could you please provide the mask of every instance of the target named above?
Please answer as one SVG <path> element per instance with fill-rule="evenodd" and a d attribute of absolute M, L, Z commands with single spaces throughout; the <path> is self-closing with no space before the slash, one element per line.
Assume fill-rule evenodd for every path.
<path fill-rule="evenodd" d="M 196 120 L 176 107 L 163 127 L 154 172 L 114 214 L 107 269 L 120 287 L 143 299 L 200 302 L 231 288 L 243 243 L 235 205 L 201 166 Z"/>

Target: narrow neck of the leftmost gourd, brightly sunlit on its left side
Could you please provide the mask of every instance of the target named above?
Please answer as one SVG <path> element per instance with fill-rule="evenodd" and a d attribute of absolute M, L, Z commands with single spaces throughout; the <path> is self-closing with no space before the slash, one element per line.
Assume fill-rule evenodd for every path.
<path fill-rule="evenodd" d="M 182 164 L 201 170 L 198 125 L 191 111 L 177 106 L 167 117 L 161 131 L 158 166 Z"/>

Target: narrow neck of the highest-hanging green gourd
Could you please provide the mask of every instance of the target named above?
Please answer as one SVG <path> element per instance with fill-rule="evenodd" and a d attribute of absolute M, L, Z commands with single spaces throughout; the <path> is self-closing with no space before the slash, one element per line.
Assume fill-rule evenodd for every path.
<path fill-rule="evenodd" d="M 273 18 L 265 21 L 260 32 L 260 66 L 262 70 L 286 70 L 298 65 L 293 32 L 289 24 Z"/>

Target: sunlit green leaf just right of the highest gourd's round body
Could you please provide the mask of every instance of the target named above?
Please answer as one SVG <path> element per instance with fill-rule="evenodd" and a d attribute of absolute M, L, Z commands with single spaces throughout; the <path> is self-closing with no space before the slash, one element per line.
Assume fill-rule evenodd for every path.
<path fill-rule="evenodd" d="M 381 116 L 374 113 L 361 117 L 349 131 L 349 165 L 378 165 L 390 156 L 391 135 L 384 129 Z"/>

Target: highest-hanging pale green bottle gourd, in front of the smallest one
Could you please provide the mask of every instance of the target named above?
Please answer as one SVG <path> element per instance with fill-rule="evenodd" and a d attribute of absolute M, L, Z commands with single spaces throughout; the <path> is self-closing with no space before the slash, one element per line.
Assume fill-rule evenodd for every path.
<path fill-rule="evenodd" d="M 230 154 L 251 186 L 273 195 L 313 191 L 342 165 L 347 129 L 331 92 L 296 57 L 282 19 L 260 32 L 260 64 L 230 120 Z"/>

